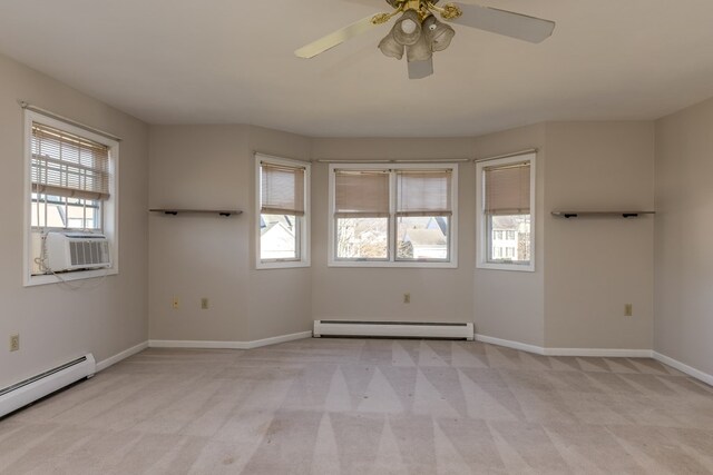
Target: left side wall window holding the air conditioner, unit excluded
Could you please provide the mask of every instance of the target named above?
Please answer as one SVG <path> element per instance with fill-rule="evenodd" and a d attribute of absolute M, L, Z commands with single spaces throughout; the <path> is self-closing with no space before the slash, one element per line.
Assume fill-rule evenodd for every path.
<path fill-rule="evenodd" d="M 117 274 L 118 141 L 35 111 L 25 115 L 26 285 Z M 106 236 L 111 268 L 50 269 L 46 237 L 57 231 Z"/>

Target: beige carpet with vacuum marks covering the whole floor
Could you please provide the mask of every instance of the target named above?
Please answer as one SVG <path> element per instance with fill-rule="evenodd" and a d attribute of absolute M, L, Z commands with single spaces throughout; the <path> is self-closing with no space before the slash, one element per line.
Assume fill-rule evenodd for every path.
<path fill-rule="evenodd" d="M 713 388 L 480 343 L 148 349 L 1 420 L 0 473 L 713 473 Z"/>

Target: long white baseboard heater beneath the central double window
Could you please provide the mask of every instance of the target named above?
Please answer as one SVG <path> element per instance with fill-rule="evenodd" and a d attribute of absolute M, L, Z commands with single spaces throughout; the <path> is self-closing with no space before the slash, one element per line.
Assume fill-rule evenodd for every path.
<path fill-rule="evenodd" d="M 314 320 L 315 338 L 361 336 L 390 338 L 473 339 L 472 324 L 432 324 L 420 321 Z"/>

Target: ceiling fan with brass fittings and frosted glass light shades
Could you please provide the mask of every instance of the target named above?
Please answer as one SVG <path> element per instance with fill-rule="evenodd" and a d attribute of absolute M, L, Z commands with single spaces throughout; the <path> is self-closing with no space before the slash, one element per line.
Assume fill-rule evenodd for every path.
<path fill-rule="evenodd" d="M 528 17 L 497 8 L 460 2 L 437 6 L 439 0 L 385 0 L 393 11 L 377 13 L 336 30 L 313 41 L 294 53 L 300 58 L 313 58 L 344 41 L 388 22 L 401 14 L 393 28 L 379 43 L 379 49 L 388 57 L 401 59 L 406 51 L 410 79 L 421 79 L 433 73 L 436 51 L 450 44 L 456 31 L 442 20 L 505 34 L 534 43 L 547 39 L 555 29 L 555 22 Z"/>

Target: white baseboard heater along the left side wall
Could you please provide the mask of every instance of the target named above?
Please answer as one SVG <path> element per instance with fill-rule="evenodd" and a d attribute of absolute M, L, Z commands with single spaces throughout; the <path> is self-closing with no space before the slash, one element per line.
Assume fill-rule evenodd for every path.
<path fill-rule="evenodd" d="M 80 358 L 0 389 L 0 417 L 79 379 L 94 376 L 96 367 L 94 356 L 89 353 Z"/>

